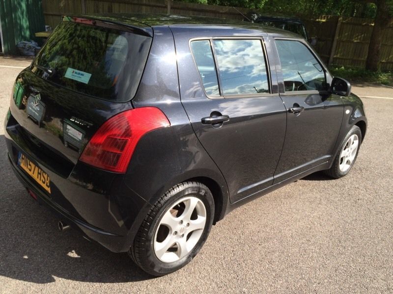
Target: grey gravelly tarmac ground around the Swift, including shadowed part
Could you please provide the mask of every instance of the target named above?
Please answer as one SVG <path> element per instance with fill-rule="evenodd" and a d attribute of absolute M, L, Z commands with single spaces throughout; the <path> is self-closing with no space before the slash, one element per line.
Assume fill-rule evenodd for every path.
<path fill-rule="evenodd" d="M 0 117 L 30 60 L 0 58 Z M 362 96 L 393 88 L 357 85 Z M 355 167 L 310 175 L 213 227 L 197 257 L 160 278 L 127 254 L 60 233 L 6 159 L 0 126 L 0 293 L 393 293 L 393 99 L 362 98 L 368 130 Z"/>

